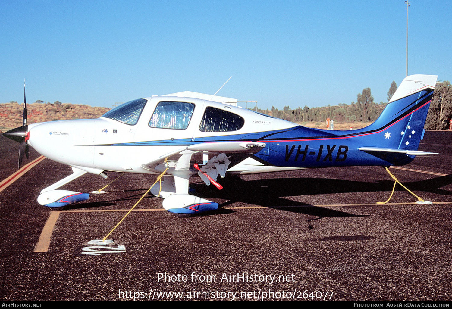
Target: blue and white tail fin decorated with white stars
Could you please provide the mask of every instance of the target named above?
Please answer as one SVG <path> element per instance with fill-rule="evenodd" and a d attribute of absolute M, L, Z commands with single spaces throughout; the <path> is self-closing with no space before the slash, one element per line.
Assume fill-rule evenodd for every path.
<path fill-rule="evenodd" d="M 437 75 L 410 75 L 395 91 L 380 117 L 363 131 L 381 131 L 390 149 L 417 150 L 424 137 L 424 124 L 435 89 Z M 383 144 L 383 145 L 382 145 Z"/>

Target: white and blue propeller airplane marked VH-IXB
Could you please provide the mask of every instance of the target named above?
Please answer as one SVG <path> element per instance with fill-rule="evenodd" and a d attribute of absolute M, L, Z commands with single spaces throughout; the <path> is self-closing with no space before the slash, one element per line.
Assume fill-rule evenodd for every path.
<path fill-rule="evenodd" d="M 406 77 L 380 117 L 352 131 L 307 128 L 251 110 L 200 98 L 152 96 L 110 110 L 98 119 L 27 125 L 3 135 L 21 143 L 19 166 L 28 145 L 70 165 L 73 173 L 42 189 L 38 203 L 61 207 L 89 194 L 58 190 L 85 173 L 107 178 L 105 171 L 164 176 L 163 198 L 172 213 L 190 215 L 218 204 L 188 192 L 198 174 L 209 185 L 218 175 L 287 171 L 337 166 L 391 166 L 410 163 L 424 136 L 424 123 L 436 75 Z"/>

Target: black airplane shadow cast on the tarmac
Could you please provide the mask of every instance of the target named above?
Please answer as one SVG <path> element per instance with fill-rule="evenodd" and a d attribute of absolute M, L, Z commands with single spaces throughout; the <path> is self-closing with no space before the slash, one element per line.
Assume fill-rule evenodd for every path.
<path fill-rule="evenodd" d="M 441 187 L 451 183 L 452 177 L 441 176 L 404 184 L 413 191 L 451 195 L 452 192 L 441 189 Z M 312 206 L 311 204 L 292 201 L 284 197 L 353 192 L 388 192 L 392 189 L 394 182 L 392 180 L 364 182 L 328 178 L 273 178 L 245 181 L 238 176 L 228 176 L 221 179 L 221 184 L 224 188 L 219 191 L 213 190 L 212 186 L 207 187 L 202 182 L 190 183 L 190 188 L 194 189 L 198 196 L 228 200 L 227 202 L 222 203 L 217 211 L 207 211 L 200 214 L 200 216 L 233 213 L 235 211 L 221 207 L 227 207 L 237 202 L 313 215 L 320 218 L 362 216 L 325 207 Z M 124 190 L 122 192 L 137 193 L 114 200 L 93 201 L 66 206 L 64 210 L 118 205 L 122 204 L 121 202 L 123 201 L 137 200 L 141 197 L 144 190 L 145 189 Z M 405 189 L 401 188 L 399 185 L 396 186 L 396 191 L 404 190 Z M 148 195 L 145 199 L 147 198 L 153 197 Z M 386 195 L 384 198 L 386 198 Z"/>

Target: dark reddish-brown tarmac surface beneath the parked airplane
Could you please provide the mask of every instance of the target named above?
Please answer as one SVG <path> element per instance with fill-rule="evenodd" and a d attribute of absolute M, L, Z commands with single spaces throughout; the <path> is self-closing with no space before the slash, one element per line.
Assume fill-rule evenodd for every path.
<path fill-rule="evenodd" d="M 452 132 L 426 132 L 419 150 L 439 155 L 403 167 L 418 172 L 390 170 L 432 205 L 399 185 L 377 205 L 394 184 L 381 167 L 219 178 L 221 191 L 193 177 L 196 195 L 219 210 L 178 218 L 147 195 L 100 248 L 88 241 L 108 234 L 156 177 L 125 174 L 106 194 L 49 211 L 39 192 L 71 169 L 44 159 L 0 192 L 0 298 L 451 300 Z M 3 138 L 0 151 L 2 180 L 17 171 L 19 144 Z M 31 149 L 22 165 L 38 156 Z M 91 192 L 119 173 L 108 175 L 61 189 Z M 95 252 L 106 253 L 86 254 Z"/>

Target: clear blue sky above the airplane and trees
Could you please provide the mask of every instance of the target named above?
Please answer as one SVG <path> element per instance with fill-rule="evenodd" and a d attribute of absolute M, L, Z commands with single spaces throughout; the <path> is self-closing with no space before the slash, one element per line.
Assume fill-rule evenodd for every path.
<path fill-rule="evenodd" d="M 409 74 L 452 79 L 452 6 L 412 0 Z M 386 101 L 405 77 L 406 5 L 388 1 L 0 0 L 0 102 L 111 107 L 191 90 L 259 108 Z"/>

